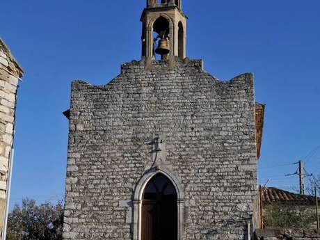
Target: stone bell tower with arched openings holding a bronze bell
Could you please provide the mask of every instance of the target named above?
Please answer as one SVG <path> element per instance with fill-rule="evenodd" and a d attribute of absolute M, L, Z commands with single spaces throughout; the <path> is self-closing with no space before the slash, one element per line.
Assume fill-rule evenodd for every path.
<path fill-rule="evenodd" d="M 186 57 L 186 15 L 182 0 L 147 0 L 141 15 L 142 56 L 167 59 L 168 56 Z"/>

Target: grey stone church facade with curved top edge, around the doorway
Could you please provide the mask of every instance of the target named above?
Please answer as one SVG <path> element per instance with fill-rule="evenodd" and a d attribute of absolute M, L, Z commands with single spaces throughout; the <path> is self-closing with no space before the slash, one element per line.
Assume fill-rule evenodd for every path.
<path fill-rule="evenodd" d="M 174 65 L 133 61 L 105 86 L 72 83 L 63 239 L 134 239 L 154 134 L 184 191 L 181 239 L 245 239 L 257 192 L 253 75 L 218 81 L 202 61 Z"/>

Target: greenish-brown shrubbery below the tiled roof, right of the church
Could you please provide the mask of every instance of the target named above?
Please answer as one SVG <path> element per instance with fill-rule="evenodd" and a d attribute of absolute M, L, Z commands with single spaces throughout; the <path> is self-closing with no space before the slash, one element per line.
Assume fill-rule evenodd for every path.
<path fill-rule="evenodd" d="M 264 224 L 268 227 L 310 228 L 317 221 L 314 209 L 286 205 L 264 207 Z"/>

